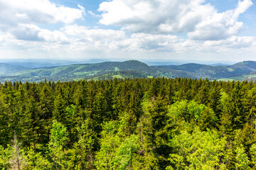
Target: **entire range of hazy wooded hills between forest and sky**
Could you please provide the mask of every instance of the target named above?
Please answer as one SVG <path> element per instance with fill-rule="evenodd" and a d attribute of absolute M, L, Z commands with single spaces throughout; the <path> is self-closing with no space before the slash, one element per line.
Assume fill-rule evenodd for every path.
<path fill-rule="evenodd" d="M 151 77 L 187 77 L 192 79 L 244 80 L 256 79 L 256 62 L 245 61 L 230 66 L 206 64 L 181 64 L 149 66 L 144 62 L 101 62 L 95 64 L 70 64 L 31 69 L 11 64 L 1 64 L 0 81 L 71 81 L 79 79 L 118 79 Z"/>

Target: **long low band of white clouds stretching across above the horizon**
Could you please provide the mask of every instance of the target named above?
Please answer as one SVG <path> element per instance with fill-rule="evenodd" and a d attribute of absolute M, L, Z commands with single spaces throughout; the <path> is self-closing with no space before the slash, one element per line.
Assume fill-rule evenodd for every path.
<path fill-rule="evenodd" d="M 16 31 L 16 32 L 15 32 Z M 20 25 L 12 32 L 9 45 L 28 49 L 70 52 L 232 52 L 245 51 L 256 45 L 255 37 L 231 36 L 225 40 L 186 40 L 176 35 L 132 33 L 123 30 L 90 29 L 84 26 L 65 26 L 49 31 L 35 25 Z M 24 35 L 24 37 L 22 37 Z M 10 37 L 9 37 L 10 38 Z M 6 40 L 0 36 L 0 40 Z"/>

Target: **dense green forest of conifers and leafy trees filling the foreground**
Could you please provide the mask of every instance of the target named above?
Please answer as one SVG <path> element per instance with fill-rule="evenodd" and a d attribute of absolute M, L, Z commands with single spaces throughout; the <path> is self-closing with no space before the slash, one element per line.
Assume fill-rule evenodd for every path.
<path fill-rule="evenodd" d="M 0 84 L 0 169 L 256 169 L 256 83 Z"/>

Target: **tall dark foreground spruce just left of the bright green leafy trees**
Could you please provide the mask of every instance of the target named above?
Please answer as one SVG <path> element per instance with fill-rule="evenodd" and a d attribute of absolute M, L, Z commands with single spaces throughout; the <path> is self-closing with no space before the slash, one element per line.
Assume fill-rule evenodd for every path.
<path fill-rule="evenodd" d="M 171 151 L 168 145 L 171 125 L 167 115 L 166 102 L 160 96 L 153 99 L 139 123 L 139 136 L 144 149 L 146 169 L 164 169 Z"/>

